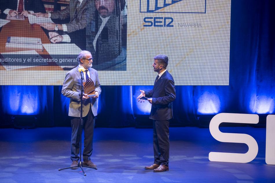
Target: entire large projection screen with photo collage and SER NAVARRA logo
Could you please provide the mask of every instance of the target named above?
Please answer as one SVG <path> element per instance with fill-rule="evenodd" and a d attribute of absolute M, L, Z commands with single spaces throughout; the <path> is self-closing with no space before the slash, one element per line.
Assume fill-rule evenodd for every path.
<path fill-rule="evenodd" d="M 230 0 L 4 0 L 0 8 L 0 85 L 62 85 L 81 50 L 101 85 L 153 85 L 159 54 L 175 85 L 229 85 Z M 10 80 L 18 74 L 9 70 L 23 77 Z"/>

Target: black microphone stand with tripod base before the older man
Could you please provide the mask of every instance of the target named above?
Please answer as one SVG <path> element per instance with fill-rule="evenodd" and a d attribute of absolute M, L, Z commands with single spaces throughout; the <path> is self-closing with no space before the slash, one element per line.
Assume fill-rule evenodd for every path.
<path fill-rule="evenodd" d="M 97 170 L 97 167 L 88 167 L 88 166 L 85 166 L 85 165 L 83 165 L 83 162 L 81 161 L 81 155 L 82 155 L 82 152 L 81 152 L 81 149 L 82 149 L 82 144 L 81 144 L 82 140 L 81 140 L 81 137 L 82 137 L 82 127 L 83 127 L 83 119 L 82 119 L 82 113 L 83 113 L 83 111 L 82 111 L 82 103 L 83 103 L 83 99 L 82 99 L 82 97 L 83 97 L 83 93 L 84 93 L 84 88 L 83 88 L 84 76 L 83 76 L 83 71 L 81 71 L 80 73 L 81 73 L 80 74 L 81 75 L 81 93 L 80 93 L 80 123 L 81 123 L 80 129 L 81 130 L 80 130 L 80 145 L 79 145 L 79 148 L 80 148 L 79 159 L 80 159 L 80 161 L 79 161 L 79 163 L 78 163 L 77 166 L 67 167 L 67 168 L 60 168 L 60 169 L 58 169 L 58 171 L 69 169 L 69 168 L 80 167 L 81 170 L 82 170 L 82 172 L 84 173 L 84 176 L 86 176 L 86 173 L 85 173 L 85 171 L 83 170 L 82 167 L 92 168 L 92 169 L 96 169 L 96 170 Z"/>

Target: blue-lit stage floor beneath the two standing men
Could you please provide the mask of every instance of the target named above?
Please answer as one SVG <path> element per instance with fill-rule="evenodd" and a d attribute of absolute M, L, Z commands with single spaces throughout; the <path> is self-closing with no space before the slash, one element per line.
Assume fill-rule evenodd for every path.
<path fill-rule="evenodd" d="M 223 127 L 223 132 L 247 133 L 259 146 L 250 163 L 210 162 L 210 151 L 245 153 L 244 144 L 220 143 L 209 129 L 170 128 L 169 171 L 145 170 L 153 163 L 152 129 L 96 128 L 92 161 L 98 170 L 58 171 L 70 160 L 69 127 L 29 130 L 0 129 L 0 182 L 275 182 L 275 165 L 265 164 L 265 128 Z M 275 156 L 275 155 L 274 155 Z"/>

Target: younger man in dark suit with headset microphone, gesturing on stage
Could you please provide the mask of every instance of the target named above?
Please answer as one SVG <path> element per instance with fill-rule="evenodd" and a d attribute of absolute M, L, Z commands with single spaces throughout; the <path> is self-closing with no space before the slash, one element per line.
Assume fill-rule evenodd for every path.
<path fill-rule="evenodd" d="M 154 57 L 153 68 L 158 73 L 153 90 L 141 91 L 141 97 L 152 97 L 148 101 L 152 104 L 150 119 L 153 119 L 153 149 L 154 164 L 145 169 L 154 172 L 169 170 L 169 120 L 173 118 L 173 101 L 176 99 L 175 82 L 166 70 L 168 57 L 157 55 Z M 144 101 L 144 100 L 142 100 Z"/>

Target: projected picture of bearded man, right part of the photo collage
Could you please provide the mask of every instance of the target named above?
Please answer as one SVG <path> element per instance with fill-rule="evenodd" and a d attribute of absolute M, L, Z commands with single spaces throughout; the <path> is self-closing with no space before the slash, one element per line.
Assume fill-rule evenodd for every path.
<path fill-rule="evenodd" d="M 126 71 L 127 1 L 95 0 L 86 29 L 86 49 L 96 70 Z"/>

